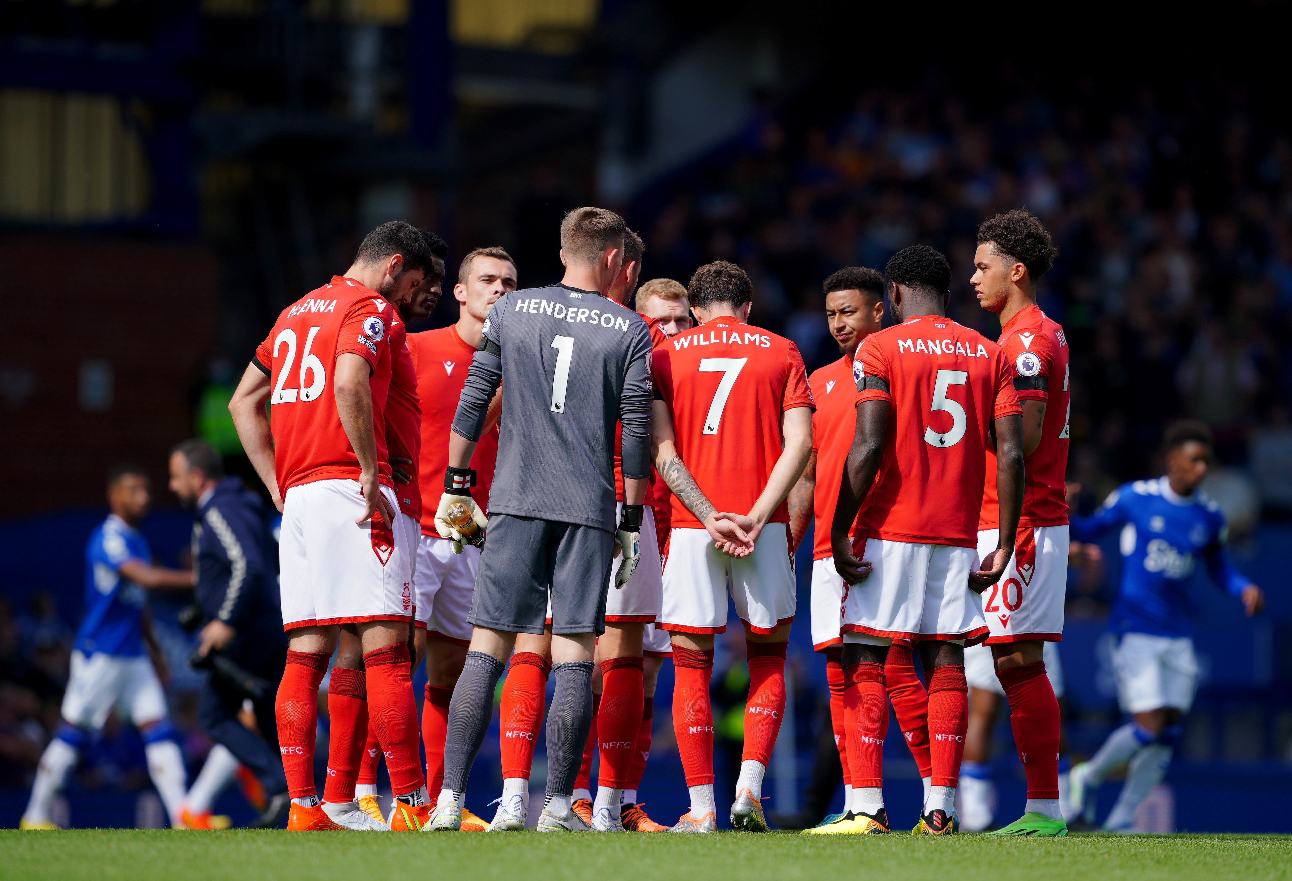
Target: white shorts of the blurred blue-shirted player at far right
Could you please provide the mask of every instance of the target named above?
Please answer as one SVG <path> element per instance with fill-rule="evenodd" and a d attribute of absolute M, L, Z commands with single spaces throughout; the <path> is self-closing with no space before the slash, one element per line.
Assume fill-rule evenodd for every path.
<path fill-rule="evenodd" d="M 1118 700 L 1127 713 L 1172 707 L 1187 713 L 1198 691 L 1198 658 L 1189 637 L 1123 633 L 1112 650 Z"/>

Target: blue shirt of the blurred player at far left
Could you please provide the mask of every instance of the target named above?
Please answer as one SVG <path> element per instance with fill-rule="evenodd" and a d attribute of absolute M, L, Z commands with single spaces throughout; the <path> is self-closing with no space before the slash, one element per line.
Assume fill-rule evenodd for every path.
<path fill-rule="evenodd" d="M 128 561 L 152 562 L 143 534 L 109 514 L 85 546 L 85 617 L 76 630 L 76 651 L 124 658 L 143 654 L 143 588 L 121 577 Z"/>

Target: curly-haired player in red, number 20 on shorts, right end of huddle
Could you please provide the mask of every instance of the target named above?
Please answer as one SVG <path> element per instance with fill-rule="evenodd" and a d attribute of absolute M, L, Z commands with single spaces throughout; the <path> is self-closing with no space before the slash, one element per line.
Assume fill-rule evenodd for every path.
<path fill-rule="evenodd" d="M 1058 249 L 1041 222 L 1026 211 L 997 214 L 978 229 L 970 279 L 978 301 L 1000 316 L 1000 346 L 1023 408 L 1027 475 L 1014 554 L 999 584 L 983 594 L 991 636 L 965 652 L 969 685 L 995 704 L 1009 700 L 1009 722 L 1027 772 L 1023 816 L 994 834 L 1065 834 L 1059 811 L 1058 699 L 1047 676 L 1043 647 L 1063 637 L 1067 592 L 1067 503 L 1063 477 L 1068 444 L 1068 347 L 1063 328 L 1036 305 L 1036 283 Z M 987 452 L 987 479 L 978 522 L 978 553 L 996 546 L 996 457 Z M 995 677 L 992 664 L 995 661 Z M 1057 652 L 1053 654 L 1057 660 Z M 977 661 L 977 665 L 974 664 Z M 979 679 L 975 682 L 975 674 Z M 1058 670 L 1053 670 L 1058 673 Z M 981 679 L 987 678 L 987 682 Z M 990 678 L 999 681 L 991 682 Z"/>

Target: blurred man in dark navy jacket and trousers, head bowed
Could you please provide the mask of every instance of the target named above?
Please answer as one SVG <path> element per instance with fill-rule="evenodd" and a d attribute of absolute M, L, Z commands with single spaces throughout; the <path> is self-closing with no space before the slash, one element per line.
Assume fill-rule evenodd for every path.
<path fill-rule="evenodd" d="M 234 669 L 229 664 L 212 668 L 202 692 L 200 722 L 265 787 L 270 819 L 287 806 L 274 716 L 287 641 L 278 601 L 276 553 L 264 505 L 239 478 L 225 477 L 220 455 L 205 440 L 185 440 L 171 452 L 171 491 L 198 514 L 193 524 L 193 563 L 198 571 L 194 596 L 204 621 L 198 654 L 240 668 L 235 676 L 229 674 Z M 247 681 L 253 677 L 267 687 L 258 694 L 248 691 Z M 238 718 L 248 699 L 258 735 Z"/>

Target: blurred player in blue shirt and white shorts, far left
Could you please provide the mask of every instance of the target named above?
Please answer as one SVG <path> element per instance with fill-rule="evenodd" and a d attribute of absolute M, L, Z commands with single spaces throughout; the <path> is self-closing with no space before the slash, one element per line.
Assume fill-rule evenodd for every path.
<path fill-rule="evenodd" d="M 31 788 L 23 829 L 54 829 L 49 806 L 107 714 L 120 707 L 143 735 L 149 774 L 172 824 L 183 801 L 183 757 L 167 717 L 158 669 L 165 665 L 152 637 L 146 590 L 191 589 L 193 572 L 152 565 L 140 521 L 149 510 L 149 477 L 123 465 L 107 475 L 111 514 L 85 548 L 85 619 L 76 632 L 62 725 L 49 741 Z M 150 661 L 145 656 L 145 643 Z M 156 667 L 154 667 L 156 665 Z M 164 672 L 163 672 L 164 676 Z"/>

